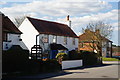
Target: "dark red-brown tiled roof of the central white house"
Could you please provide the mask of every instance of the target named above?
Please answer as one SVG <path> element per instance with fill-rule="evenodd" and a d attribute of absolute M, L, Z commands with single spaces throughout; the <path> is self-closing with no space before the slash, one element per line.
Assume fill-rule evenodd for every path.
<path fill-rule="evenodd" d="M 27 18 L 40 34 L 52 34 L 78 38 L 71 28 L 65 24 L 30 17 Z"/>

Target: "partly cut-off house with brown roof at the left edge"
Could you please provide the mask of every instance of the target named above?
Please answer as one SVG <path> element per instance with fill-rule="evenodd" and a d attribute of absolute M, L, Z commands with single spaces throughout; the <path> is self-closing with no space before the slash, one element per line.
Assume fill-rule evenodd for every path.
<path fill-rule="evenodd" d="M 28 50 L 22 42 L 22 32 L 13 24 L 13 22 L 4 14 L 2 15 L 2 42 L 3 50 L 10 49 L 13 45 L 19 45 L 22 49 Z"/>

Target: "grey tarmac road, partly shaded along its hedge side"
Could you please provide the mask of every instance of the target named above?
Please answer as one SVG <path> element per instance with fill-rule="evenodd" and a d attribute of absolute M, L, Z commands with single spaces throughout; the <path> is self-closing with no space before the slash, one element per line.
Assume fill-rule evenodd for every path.
<path fill-rule="evenodd" d="M 77 69 L 68 69 L 59 73 L 48 73 L 48 74 L 38 74 L 34 76 L 23 76 L 20 77 L 21 80 L 25 78 L 25 80 L 73 80 L 79 78 L 106 78 L 105 80 L 110 80 L 109 78 L 118 78 L 118 70 L 120 70 L 119 64 L 116 61 L 112 62 L 104 62 L 103 66 L 95 66 L 88 68 L 77 68 Z M 16 79 L 18 80 L 18 79 Z M 83 79 L 82 79 L 83 80 Z M 117 79 L 118 80 L 118 79 Z"/>

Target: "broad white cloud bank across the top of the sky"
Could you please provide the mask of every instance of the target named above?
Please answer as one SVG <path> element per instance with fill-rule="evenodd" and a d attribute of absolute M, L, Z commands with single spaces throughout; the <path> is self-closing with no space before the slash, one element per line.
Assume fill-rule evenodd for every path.
<path fill-rule="evenodd" d="M 87 1 L 87 0 L 86 0 Z M 33 13 L 37 15 L 65 16 L 65 15 L 86 15 L 95 13 L 103 9 L 111 8 L 111 5 L 105 1 L 93 0 L 94 2 L 85 2 L 84 0 L 50 0 L 33 1 L 25 4 L 16 4 L 12 7 L 4 7 L 0 10 L 8 16 L 25 15 Z"/>

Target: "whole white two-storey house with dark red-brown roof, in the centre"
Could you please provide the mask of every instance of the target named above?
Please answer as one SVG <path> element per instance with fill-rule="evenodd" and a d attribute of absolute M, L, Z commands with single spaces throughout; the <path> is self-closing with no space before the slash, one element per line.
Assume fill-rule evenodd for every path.
<path fill-rule="evenodd" d="M 19 30 L 23 32 L 21 38 L 30 52 L 35 47 L 49 54 L 78 49 L 78 37 L 66 24 L 26 17 Z"/>

